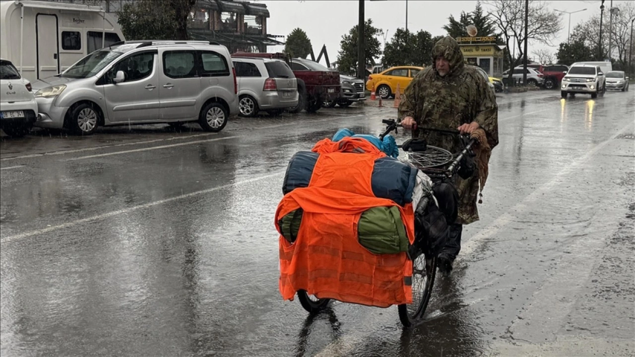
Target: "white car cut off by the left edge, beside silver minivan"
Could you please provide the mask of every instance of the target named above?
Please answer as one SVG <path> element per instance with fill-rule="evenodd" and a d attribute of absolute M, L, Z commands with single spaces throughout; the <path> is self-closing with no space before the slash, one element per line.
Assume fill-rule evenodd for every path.
<path fill-rule="evenodd" d="M 0 128 L 11 137 L 27 135 L 37 118 L 31 84 L 9 60 L 0 58 Z"/>

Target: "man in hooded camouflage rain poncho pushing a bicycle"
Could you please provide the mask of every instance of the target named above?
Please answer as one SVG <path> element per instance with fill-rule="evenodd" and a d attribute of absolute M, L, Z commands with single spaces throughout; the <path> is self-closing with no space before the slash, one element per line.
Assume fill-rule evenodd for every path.
<path fill-rule="evenodd" d="M 462 133 L 481 128 L 491 148 L 498 144 L 496 97 L 476 68 L 465 66 L 458 43 L 450 36 L 432 48 L 432 66 L 420 71 L 408 85 L 398 115 L 404 128 L 413 128 L 413 138 L 424 137 L 430 145 L 450 152 L 463 149 L 458 135 L 424 133 L 417 127 L 458 129 Z M 450 273 L 461 248 L 462 225 L 479 219 L 476 208 L 478 172 L 467 180 L 455 176 L 459 195 L 458 218 L 450 225 L 450 238 L 439 254 L 439 269 L 446 274 Z"/>

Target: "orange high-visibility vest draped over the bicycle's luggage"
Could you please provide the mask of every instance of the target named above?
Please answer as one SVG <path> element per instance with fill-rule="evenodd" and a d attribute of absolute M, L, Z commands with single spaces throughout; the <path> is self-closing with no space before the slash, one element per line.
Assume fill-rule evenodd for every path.
<path fill-rule="evenodd" d="M 330 298 L 368 306 L 388 307 L 412 302 L 412 262 L 405 252 L 374 254 L 359 244 L 361 214 L 377 206 L 398 206 L 408 239 L 413 243 L 412 204 L 399 206 L 373 195 L 371 175 L 375 159 L 385 154 L 362 138 L 324 139 L 313 148 L 320 156 L 309 187 L 284 196 L 278 220 L 302 208 L 302 224 L 293 244 L 279 238 L 279 288 L 284 300 L 297 290 L 320 299 Z"/>

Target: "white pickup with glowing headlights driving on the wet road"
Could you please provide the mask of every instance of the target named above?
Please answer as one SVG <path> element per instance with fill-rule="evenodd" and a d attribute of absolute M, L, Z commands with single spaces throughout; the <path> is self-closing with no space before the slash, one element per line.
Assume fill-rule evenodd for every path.
<path fill-rule="evenodd" d="M 605 91 L 606 77 L 597 65 L 572 65 L 560 86 L 563 98 L 575 93 L 591 94 L 591 98 L 597 98 L 598 93 Z"/>

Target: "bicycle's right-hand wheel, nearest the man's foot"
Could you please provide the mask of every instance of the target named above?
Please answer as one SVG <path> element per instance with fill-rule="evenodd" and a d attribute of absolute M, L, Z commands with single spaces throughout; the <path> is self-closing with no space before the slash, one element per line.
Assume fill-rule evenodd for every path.
<path fill-rule="evenodd" d="M 422 253 L 412 262 L 412 304 L 398 306 L 399 320 L 404 327 L 416 325 L 424 317 L 434 286 L 436 257 L 426 259 Z"/>

